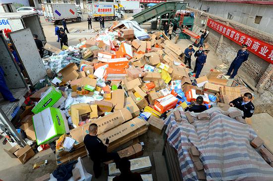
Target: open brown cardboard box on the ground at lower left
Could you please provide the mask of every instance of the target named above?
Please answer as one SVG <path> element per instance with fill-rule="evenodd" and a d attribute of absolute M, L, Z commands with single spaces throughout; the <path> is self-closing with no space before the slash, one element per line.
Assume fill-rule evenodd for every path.
<path fill-rule="evenodd" d="M 25 147 L 20 147 L 18 145 L 13 146 L 11 149 L 4 151 L 11 157 L 17 158 L 22 164 L 26 163 L 30 158 L 32 158 L 35 153 L 29 145 Z"/>

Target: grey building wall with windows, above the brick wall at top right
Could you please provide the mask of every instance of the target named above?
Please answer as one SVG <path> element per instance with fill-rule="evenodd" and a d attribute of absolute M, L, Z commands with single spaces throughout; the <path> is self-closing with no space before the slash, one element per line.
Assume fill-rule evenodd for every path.
<path fill-rule="evenodd" d="M 216 2 L 203 0 L 184 0 L 189 3 L 189 7 L 198 10 L 208 10 L 206 12 L 223 18 L 227 18 L 228 13 L 232 14 L 231 20 L 244 25 L 273 33 L 273 5 L 246 4 L 234 2 Z M 209 8 L 209 9 L 208 9 Z M 255 23 L 255 17 L 262 16 L 260 24 Z"/>

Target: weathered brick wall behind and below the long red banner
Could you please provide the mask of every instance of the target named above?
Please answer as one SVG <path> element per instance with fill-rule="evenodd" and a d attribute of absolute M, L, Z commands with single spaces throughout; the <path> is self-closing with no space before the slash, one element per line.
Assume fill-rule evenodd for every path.
<path fill-rule="evenodd" d="M 195 12 L 195 26 L 205 28 L 205 25 L 201 24 L 202 20 L 207 20 L 211 18 L 214 21 L 218 21 L 222 24 L 228 24 L 228 26 L 248 34 L 252 37 L 260 39 L 266 43 L 273 44 L 273 35 L 256 30 L 254 28 L 242 25 L 240 23 L 234 22 L 232 20 L 224 19 L 219 16 L 214 16 L 196 9 L 189 8 Z M 202 15 L 201 15 L 202 13 Z M 210 47 L 216 51 L 217 56 L 226 64 L 230 64 L 236 57 L 237 51 L 241 48 L 240 45 L 232 42 L 228 38 L 222 36 L 221 34 L 215 32 L 214 30 L 206 27 L 209 31 L 205 42 L 207 42 Z M 250 51 L 249 51 L 250 52 Z M 241 71 L 245 73 L 245 77 L 248 82 L 252 83 L 253 87 L 256 86 L 259 89 L 261 86 L 265 90 L 273 92 L 273 75 L 272 66 L 269 68 L 270 63 L 263 60 L 259 56 L 250 52 L 248 61 L 244 62 L 240 68 Z M 268 75 L 265 75 L 268 74 Z M 257 87 L 258 86 L 258 87 Z"/>

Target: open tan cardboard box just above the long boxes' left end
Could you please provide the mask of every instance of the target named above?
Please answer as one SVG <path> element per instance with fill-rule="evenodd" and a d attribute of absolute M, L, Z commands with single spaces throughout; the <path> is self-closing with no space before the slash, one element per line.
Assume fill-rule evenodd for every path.
<path fill-rule="evenodd" d="M 80 121 L 98 117 L 97 105 L 78 103 L 70 106 L 72 123 L 78 127 Z"/>

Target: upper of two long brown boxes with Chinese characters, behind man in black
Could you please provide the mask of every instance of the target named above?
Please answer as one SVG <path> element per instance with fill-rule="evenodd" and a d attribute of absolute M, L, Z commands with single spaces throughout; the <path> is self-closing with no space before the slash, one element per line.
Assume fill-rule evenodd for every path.
<path fill-rule="evenodd" d="M 127 108 L 124 108 L 122 110 L 117 110 L 109 115 L 100 117 L 92 123 L 96 123 L 98 125 L 98 134 L 102 134 L 130 119 L 132 119 L 131 112 Z M 90 124 L 91 123 L 88 123 L 81 127 L 70 130 L 71 138 L 78 142 L 82 142 L 84 136 L 89 133 L 88 128 Z"/>

